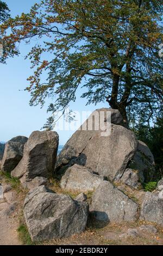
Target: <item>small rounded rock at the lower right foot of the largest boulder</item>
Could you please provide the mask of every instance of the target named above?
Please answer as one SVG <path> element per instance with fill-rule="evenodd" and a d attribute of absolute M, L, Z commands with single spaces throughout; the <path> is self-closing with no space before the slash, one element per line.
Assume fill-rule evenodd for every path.
<path fill-rule="evenodd" d="M 126 169 L 121 178 L 124 184 L 131 186 L 131 187 L 138 187 L 140 186 L 140 177 L 139 171 L 133 169 Z"/>

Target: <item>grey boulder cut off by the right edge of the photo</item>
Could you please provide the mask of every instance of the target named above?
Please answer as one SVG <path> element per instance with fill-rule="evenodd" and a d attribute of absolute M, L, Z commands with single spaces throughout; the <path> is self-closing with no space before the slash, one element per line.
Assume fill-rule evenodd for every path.
<path fill-rule="evenodd" d="M 163 226 L 163 200 L 157 194 L 146 192 L 140 218 Z"/>

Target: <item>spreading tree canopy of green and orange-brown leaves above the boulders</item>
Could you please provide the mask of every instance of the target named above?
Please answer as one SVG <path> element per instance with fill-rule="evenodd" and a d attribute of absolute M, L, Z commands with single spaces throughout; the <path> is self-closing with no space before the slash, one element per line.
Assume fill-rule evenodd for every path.
<path fill-rule="evenodd" d="M 50 96 L 48 111 L 64 113 L 82 86 L 88 104 L 107 101 L 126 123 L 141 115 L 150 125 L 162 109 L 162 11 L 162 0 L 42 0 L 1 25 L 3 62 L 37 38 L 31 105 Z"/>

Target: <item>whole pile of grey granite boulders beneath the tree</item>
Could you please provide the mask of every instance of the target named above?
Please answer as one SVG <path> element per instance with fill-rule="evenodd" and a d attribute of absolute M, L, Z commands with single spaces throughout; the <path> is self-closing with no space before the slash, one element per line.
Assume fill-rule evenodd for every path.
<path fill-rule="evenodd" d="M 93 112 L 58 157 L 57 132 L 35 131 L 28 141 L 18 141 L 19 158 L 7 156 L 14 142 L 12 147 L 7 143 L 2 168 L 29 190 L 24 216 L 33 241 L 78 234 L 85 230 L 88 216 L 105 224 L 141 219 L 163 226 L 163 181 L 154 192 L 145 192 L 142 186 L 153 179 L 154 157 L 123 125 L 116 109 Z M 48 188 L 53 174 L 60 177 L 60 194 Z M 72 192 L 78 194 L 74 199 L 68 196 Z"/>

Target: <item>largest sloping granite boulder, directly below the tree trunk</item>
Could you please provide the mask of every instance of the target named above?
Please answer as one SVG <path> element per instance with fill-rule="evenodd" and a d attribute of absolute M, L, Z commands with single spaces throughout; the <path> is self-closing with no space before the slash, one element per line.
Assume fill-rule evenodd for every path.
<path fill-rule="evenodd" d="M 120 125 L 111 124 L 108 136 L 103 136 L 102 129 L 95 130 L 98 112 L 101 113 L 101 110 L 103 111 L 96 111 L 97 122 L 92 118 L 95 113 L 93 112 L 66 143 L 58 156 L 55 172 L 62 174 L 65 169 L 77 163 L 98 175 L 106 176 L 111 181 L 121 178 L 137 151 L 138 141 L 132 131 Z M 106 115 L 104 126 L 106 121 L 109 121 L 107 118 Z M 94 127 L 92 130 L 89 129 L 91 122 Z M 86 130 L 82 130 L 83 127 Z"/>

